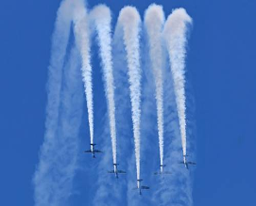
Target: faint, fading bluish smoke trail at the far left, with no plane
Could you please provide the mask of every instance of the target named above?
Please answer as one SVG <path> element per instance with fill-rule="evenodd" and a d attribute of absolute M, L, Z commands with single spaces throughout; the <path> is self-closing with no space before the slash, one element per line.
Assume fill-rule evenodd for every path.
<path fill-rule="evenodd" d="M 34 175 L 35 186 L 35 205 L 49 205 L 49 202 L 60 200 L 63 194 L 55 190 L 61 182 L 53 181 L 54 177 L 51 171 L 60 169 L 56 165 L 56 159 L 53 158 L 54 151 L 57 150 L 57 130 L 59 122 L 60 108 L 60 88 L 62 81 L 62 68 L 66 54 L 67 43 L 70 35 L 70 26 L 72 22 L 72 0 L 62 1 L 57 13 L 55 30 L 52 38 L 52 55 L 48 68 L 48 103 L 46 107 L 46 121 L 44 142 L 40 152 L 39 165 Z M 66 185 L 62 185 L 65 188 Z M 51 204 L 53 205 L 53 204 Z"/>

